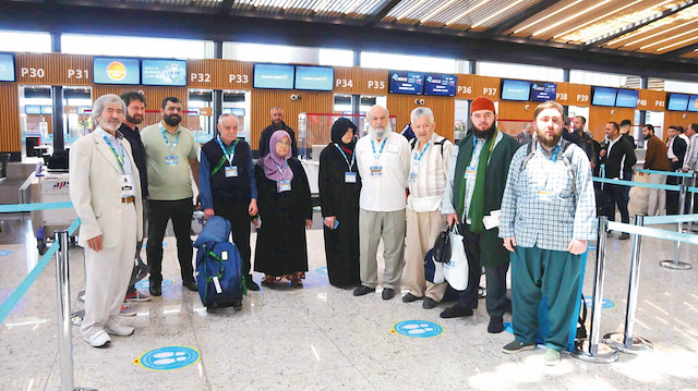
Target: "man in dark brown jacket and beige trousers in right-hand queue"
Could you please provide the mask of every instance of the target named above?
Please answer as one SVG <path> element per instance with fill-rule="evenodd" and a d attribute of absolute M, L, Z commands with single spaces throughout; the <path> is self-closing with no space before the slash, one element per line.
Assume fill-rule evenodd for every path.
<path fill-rule="evenodd" d="M 654 135 L 654 126 L 647 124 L 642 127 L 642 137 L 647 142 L 647 154 L 645 155 L 646 170 L 669 171 L 669 159 L 666 158 L 666 147 L 659 137 Z M 645 175 L 643 173 L 639 173 Z M 648 182 L 655 184 L 666 184 L 666 175 L 648 174 Z M 648 211 L 649 216 L 666 213 L 666 192 L 660 188 L 649 188 Z"/>

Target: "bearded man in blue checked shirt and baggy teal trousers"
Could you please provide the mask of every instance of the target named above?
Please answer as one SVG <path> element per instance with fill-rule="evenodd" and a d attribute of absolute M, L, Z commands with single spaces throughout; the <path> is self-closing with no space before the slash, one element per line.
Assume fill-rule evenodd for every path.
<path fill-rule="evenodd" d="M 541 103 L 534 119 L 538 143 L 530 154 L 520 148 L 512 159 L 502 200 L 500 236 L 512 252 L 515 335 L 502 351 L 535 349 L 544 296 L 547 328 L 540 325 L 549 330 L 544 363 L 556 365 L 559 351 L 568 346 L 569 325 L 577 319 L 580 254 L 595 237 L 595 205 L 587 155 L 562 139 L 563 107 L 555 101 Z"/>

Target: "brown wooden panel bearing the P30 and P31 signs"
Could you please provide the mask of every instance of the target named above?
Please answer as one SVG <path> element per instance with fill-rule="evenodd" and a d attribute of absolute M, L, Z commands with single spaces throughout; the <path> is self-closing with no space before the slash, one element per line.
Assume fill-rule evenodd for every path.
<path fill-rule="evenodd" d="M 16 53 L 17 84 L 92 85 L 92 56 Z"/>

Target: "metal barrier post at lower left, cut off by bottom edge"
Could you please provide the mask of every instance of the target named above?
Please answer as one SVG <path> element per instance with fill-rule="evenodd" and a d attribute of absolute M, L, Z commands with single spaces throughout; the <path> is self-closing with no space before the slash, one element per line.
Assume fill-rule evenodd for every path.
<path fill-rule="evenodd" d="M 58 290 L 58 340 L 59 361 L 61 363 L 61 390 L 93 391 L 86 388 L 73 388 L 73 344 L 70 331 L 70 279 L 68 269 L 68 231 L 56 231 L 56 288 Z"/>

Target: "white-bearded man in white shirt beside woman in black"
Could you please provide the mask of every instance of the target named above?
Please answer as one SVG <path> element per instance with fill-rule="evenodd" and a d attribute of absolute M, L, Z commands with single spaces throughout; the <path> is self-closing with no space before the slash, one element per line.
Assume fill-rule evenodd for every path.
<path fill-rule="evenodd" d="M 357 168 L 361 175 L 359 195 L 359 269 L 362 296 L 378 284 L 376 253 L 383 239 L 383 300 L 400 288 L 405 266 L 405 190 L 410 171 L 410 146 L 394 133 L 388 110 L 375 105 L 366 112 L 369 134 L 357 142 Z"/>

